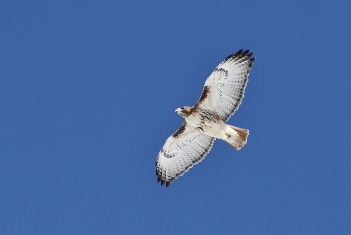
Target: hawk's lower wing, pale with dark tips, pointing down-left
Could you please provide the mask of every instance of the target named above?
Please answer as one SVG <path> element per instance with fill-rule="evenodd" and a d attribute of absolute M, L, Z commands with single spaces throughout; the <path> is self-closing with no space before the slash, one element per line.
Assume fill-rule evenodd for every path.
<path fill-rule="evenodd" d="M 186 124 L 170 137 L 156 158 L 157 182 L 161 186 L 182 176 L 194 164 L 201 162 L 212 148 L 215 138 L 200 133 Z"/>

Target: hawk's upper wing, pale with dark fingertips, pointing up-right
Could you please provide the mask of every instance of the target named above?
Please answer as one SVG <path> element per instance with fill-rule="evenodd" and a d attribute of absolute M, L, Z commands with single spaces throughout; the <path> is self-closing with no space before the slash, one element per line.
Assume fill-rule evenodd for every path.
<path fill-rule="evenodd" d="M 225 58 L 207 78 L 195 107 L 216 112 L 224 122 L 239 108 L 249 79 L 252 52 L 243 50 Z"/>

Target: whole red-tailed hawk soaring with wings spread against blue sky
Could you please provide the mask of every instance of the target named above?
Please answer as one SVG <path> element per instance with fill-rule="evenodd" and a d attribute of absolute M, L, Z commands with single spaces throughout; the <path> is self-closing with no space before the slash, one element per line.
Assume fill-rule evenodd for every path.
<path fill-rule="evenodd" d="M 161 186 L 183 175 L 201 162 L 214 140 L 223 139 L 239 150 L 246 143 L 249 130 L 225 124 L 244 97 L 247 77 L 253 61 L 252 52 L 243 50 L 230 55 L 207 78 L 199 101 L 192 107 L 176 109 L 183 125 L 170 137 L 156 159 L 157 182 Z"/>

